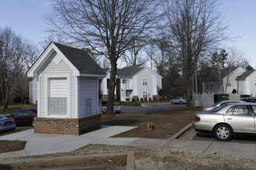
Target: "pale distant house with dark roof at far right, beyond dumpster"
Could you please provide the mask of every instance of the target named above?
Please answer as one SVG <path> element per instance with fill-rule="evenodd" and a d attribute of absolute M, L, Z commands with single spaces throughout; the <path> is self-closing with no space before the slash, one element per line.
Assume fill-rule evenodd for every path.
<path fill-rule="evenodd" d="M 256 72 L 244 68 L 230 67 L 215 71 L 202 80 L 203 93 L 232 93 L 238 89 L 240 94 L 256 94 Z"/>

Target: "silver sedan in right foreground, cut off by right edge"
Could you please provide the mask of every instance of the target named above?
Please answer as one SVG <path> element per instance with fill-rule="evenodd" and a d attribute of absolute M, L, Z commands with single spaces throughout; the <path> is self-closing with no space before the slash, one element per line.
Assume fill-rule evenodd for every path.
<path fill-rule="evenodd" d="M 256 104 L 230 103 L 210 111 L 195 113 L 195 131 L 213 132 L 219 141 L 229 141 L 234 133 L 255 134 Z"/>

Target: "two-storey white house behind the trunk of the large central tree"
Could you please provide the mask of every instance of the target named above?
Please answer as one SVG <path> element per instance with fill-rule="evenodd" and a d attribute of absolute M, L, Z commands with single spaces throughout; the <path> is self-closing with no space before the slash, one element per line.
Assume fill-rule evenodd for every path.
<path fill-rule="evenodd" d="M 110 70 L 106 70 L 106 78 L 102 79 L 102 99 L 107 99 L 109 89 Z M 140 98 L 157 98 L 162 88 L 162 76 L 150 69 L 145 63 L 136 66 L 126 66 L 116 71 L 117 100 L 125 101 Z"/>

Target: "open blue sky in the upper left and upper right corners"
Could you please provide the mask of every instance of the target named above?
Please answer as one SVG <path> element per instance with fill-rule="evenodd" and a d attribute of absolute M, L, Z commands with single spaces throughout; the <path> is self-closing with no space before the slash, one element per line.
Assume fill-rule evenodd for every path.
<path fill-rule="evenodd" d="M 9 26 L 16 34 L 37 44 L 47 36 L 43 13 L 49 9 L 49 0 L 0 0 L 0 27 Z M 234 38 L 227 46 L 243 51 L 256 69 L 256 1 L 223 0 L 220 12 L 224 21 L 230 23 L 228 36 Z"/>

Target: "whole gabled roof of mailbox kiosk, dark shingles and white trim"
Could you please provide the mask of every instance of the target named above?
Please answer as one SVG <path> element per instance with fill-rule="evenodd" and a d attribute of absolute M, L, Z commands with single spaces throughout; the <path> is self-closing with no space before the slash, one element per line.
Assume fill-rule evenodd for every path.
<path fill-rule="evenodd" d="M 47 61 L 54 53 L 61 56 L 61 59 L 67 63 L 73 70 L 74 76 L 82 76 L 82 74 L 90 76 L 105 76 L 106 73 L 102 68 L 83 49 L 76 49 L 70 46 L 51 42 L 47 49 L 43 51 L 36 63 L 27 72 L 28 76 L 38 76 Z"/>

